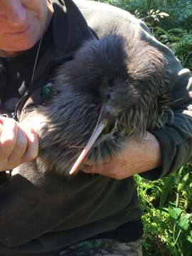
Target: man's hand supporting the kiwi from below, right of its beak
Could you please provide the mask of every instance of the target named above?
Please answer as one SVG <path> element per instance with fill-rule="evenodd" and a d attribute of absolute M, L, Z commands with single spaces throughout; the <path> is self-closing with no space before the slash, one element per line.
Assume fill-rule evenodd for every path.
<path fill-rule="evenodd" d="M 113 159 L 105 159 L 102 164 L 85 161 L 82 171 L 87 174 L 101 174 L 120 180 L 149 171 L 160 165 L 159 142 L 153 134 L 147 132 L 142 141 L 132 138 L 125 142 L 124 149 Z"/>

